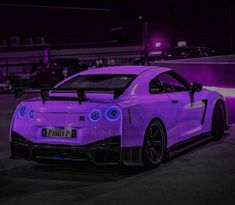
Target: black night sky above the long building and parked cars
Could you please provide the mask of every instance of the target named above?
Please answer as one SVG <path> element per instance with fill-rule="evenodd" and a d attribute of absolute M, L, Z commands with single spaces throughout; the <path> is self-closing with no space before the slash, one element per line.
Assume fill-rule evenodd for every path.
<path fill-rule="evenodd" d="M 1 2 L 108 8 L 111 10 L 111 27 L 122 27 L 121 40 L 124 42 L 140 40 L 140 35 L 133 35 L 141 29 L 139 16 L 149 23 L 150 39 L 158 38 L 173 43 L 187 40 L 191 44 L 203 44 L 214 48 L 224 47 L 222 50 L 228 50 L 231 35 L 235 37 L 235 9 L 232 0 L 28 0 L 20 3 L 8 0 Z"/>

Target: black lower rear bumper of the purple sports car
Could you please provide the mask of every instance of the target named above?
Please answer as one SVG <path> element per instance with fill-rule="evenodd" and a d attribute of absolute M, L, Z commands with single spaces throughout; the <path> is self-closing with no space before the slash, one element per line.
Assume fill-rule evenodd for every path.
<path fill-rule="evenodd" d="M 96 165 L 142 165 L 142 148 L 121 148 L 120 136 L 113 136 L 87 145 L 33 143 L 12 133 L 11 158 L 30 161 L 77 161 Z"/>

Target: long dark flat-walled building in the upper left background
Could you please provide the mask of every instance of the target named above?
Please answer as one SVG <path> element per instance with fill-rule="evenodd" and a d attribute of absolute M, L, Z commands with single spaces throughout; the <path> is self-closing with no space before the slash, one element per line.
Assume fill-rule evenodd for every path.
<path fill-rule="evenodd" d="M 110 10 L 0 4 L 2 45 L 109 42 Z"/>

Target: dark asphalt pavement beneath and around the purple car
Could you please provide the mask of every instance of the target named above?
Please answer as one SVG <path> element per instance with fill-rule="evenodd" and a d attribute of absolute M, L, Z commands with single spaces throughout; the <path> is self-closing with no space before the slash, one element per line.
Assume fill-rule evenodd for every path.
<path fill-rule="evenodd" d="M 9 159 L 19 100 L 0 95 L 0 204 L 235 204 L 235 126 L 154 170 Z"/>

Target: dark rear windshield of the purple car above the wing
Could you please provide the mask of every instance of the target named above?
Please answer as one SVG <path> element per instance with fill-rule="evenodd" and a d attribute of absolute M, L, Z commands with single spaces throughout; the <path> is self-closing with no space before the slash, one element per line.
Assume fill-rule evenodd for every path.
<path fill-rule="evenodd" d="M 135 79 L 136 75 L 78 75 L 63 83 L 58 88 L 87 88 L 112 90 L 114 88 L 126 89 Z"/>

